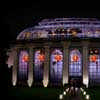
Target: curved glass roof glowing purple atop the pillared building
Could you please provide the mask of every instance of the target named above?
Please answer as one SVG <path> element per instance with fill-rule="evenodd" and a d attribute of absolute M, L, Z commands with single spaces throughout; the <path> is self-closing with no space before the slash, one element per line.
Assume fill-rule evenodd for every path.
<path fill-rule="evenodd" d="M 100 38 L 100 21 L 96 18 L 43 19 L 37 26 L 19 33 L 17 40 L 70 37 Z"/>

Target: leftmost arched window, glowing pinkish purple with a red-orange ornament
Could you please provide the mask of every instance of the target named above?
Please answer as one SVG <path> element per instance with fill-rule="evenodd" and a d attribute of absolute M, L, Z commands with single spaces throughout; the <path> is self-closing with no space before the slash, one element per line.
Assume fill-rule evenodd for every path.
<path fill-rule="evenodd" d="M 21 81 L 28 79 L 28 64 L 29 55 L 26 50 L 21 50 L 19 53 L 19 67 L 18 67 L 18 78 Z"/>

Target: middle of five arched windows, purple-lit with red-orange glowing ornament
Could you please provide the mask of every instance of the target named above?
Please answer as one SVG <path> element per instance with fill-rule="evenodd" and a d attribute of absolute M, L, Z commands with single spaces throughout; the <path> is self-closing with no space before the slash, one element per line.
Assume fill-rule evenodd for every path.
<path fill-rule="evenodd" d="M 50 81 L 62 81 L 63 53 L 60 49 L 53 49 L 50 55 Z"/>

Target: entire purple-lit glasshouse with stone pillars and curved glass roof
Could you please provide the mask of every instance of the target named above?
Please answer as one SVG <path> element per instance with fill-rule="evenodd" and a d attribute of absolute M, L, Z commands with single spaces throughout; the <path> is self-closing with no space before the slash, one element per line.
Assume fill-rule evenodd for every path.
<path fill-rule="evenodd" d="M 71 79 L 100 84 L 100 21 L 42 19 L 18 34 L 7 55 L 13 86 L 65 85 Z"/>

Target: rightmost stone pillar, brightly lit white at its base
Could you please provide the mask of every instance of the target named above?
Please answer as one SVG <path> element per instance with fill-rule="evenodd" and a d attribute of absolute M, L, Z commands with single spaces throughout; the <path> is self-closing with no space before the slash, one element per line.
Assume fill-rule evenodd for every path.
<path fill-rule="evenodd" d="M 88 87 L 89 76 L 88 76 L 88 42 L 83 42 L 83 84 Z"/>

